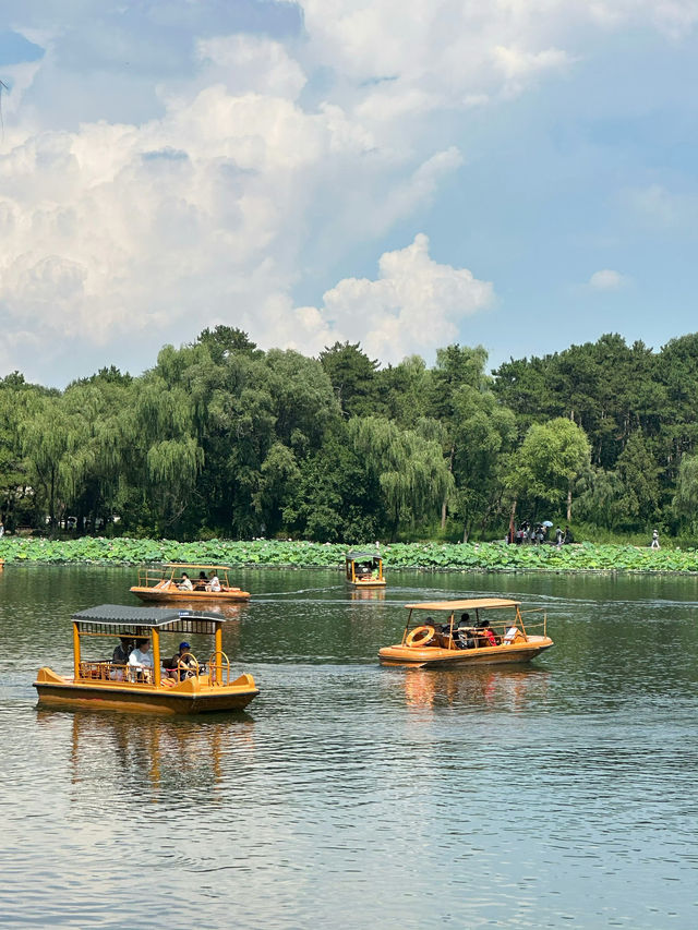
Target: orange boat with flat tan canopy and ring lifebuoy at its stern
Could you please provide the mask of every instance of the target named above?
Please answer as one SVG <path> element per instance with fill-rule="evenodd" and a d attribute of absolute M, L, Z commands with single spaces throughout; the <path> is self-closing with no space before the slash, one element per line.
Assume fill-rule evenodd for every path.
<path fill-rule="evenodd" d="M 553 641 L 545 614 L 541 623 L 525 626 L 520 606 L 503 597 L 406 604 L 401 642 L 383 647 L 378 657 L 384 665 L 417 667 L 530 662 Z M 533 628 L 540 632 L 532 633 Z"/>

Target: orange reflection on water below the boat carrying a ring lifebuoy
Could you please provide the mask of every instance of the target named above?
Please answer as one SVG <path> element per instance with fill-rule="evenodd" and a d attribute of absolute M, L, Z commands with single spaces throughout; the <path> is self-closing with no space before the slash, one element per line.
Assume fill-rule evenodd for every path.
<path fill-rule="evenodd" d="M 543 701 L 549 677 L 547 671 L 531 667 L 410 668 L 404 677 L 405 700 L 416 709 L 462 704 L 469 712 L 510 713 Z"/>

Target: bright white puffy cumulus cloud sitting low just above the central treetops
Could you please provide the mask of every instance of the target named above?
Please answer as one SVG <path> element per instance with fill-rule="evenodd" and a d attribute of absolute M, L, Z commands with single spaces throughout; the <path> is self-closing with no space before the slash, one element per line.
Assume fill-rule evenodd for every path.
<path fill-rule="evenodd" d="M 337 340 L 360 341 L 370 355 L 396 363 L 453 342 L 464 319 L 493 301 L 491 282 L 434 262 L 420 233 L 406 249 L 381 256 L 375 280 L 345 278 L 325 292 L 321 307 L 277 306 L 266 325 L 299 351 L 316 354 Z"/>

